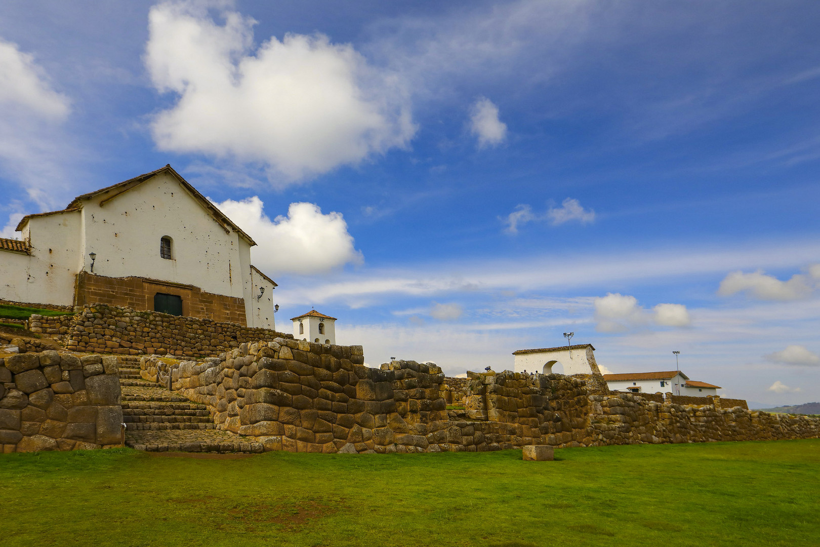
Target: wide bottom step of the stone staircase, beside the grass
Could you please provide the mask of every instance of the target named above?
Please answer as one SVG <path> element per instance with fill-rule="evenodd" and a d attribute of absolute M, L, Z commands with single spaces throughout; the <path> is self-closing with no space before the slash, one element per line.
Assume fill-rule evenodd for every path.
<path fill-rule="evenodd" d="M 126 431 L 125 445 L 148 452 L 245 452 L 259 454 L 262 443 L 219 430 Z"/>

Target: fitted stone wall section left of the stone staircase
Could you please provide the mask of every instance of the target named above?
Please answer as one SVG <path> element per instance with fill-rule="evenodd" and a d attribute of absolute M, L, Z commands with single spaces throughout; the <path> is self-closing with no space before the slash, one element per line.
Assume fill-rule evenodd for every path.
<path fill-rule="evenodd" d="M 116 357 L 44 351 L 0 358 L 2 452 L 121 446 Z"/>

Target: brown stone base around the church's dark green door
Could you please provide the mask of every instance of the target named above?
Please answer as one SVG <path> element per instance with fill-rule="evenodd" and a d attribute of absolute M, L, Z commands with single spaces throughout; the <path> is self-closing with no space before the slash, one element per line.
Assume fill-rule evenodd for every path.
<path fill-rule="evenodd" d="M 77 274 L 74 304 L 84 306 L 90 303 L 103 303 L 152 312 L 154 295 L 157 293 L 180 296 L 182 315 L 185 317 L 248 324 L 244 299 L 206 293 L 193 285 L 144 277 L 106 277 L 81 271 Z"/>

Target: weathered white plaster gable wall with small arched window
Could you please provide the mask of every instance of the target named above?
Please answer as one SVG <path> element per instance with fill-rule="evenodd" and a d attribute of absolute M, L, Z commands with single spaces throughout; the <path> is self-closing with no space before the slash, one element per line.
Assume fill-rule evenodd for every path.
<path fill-rule="evenodd" d="M 139 276 L 250 296 L 248 243 L 216 222 L 174 176 L 160 173 L 112 198 L 119 191 L 83 202 L 85 271 L 95 252 L 94 273 L 101 276 Z M 160 257 L 165 235 L 172 239 L 172 260 Z"/>

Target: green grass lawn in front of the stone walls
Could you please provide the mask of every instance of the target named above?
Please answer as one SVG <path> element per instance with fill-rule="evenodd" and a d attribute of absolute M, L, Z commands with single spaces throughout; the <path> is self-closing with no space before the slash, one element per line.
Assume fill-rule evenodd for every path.
<path fill-rule="evenodd" d="M 0 545 L 820 545 L 820 440 L 0 456 Z"/>

